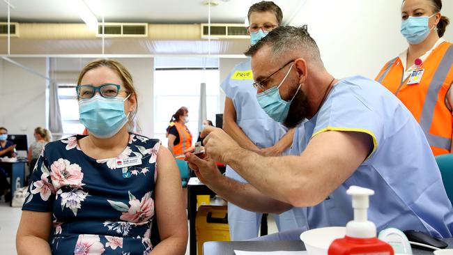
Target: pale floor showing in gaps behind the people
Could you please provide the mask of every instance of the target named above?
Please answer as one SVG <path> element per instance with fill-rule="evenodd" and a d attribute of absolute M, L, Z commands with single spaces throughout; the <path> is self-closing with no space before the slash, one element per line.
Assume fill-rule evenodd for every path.
<path fill-rule="evenodd" d="M 12 208 L 9 204 L 0 202 L 0 254 L 16 254 L 15 238 L 20 221 L 20 208 Z M 187 222 L 188 224 L 188 222 Z M 277 225 L 272 217 L 268 218 L 268 233 L 277 232 Z M 189 254 L 187 246 L 187 252 Z"/>

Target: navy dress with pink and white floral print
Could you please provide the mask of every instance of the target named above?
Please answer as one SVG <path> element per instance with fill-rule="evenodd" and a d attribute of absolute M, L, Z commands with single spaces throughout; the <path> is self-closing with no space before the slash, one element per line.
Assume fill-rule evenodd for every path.
<path fill-rule="evenodd" d="M 52 254 L 148 254 L 160 141 L 130 134 L 121 155 L 95 160 L 80 150 L 82 137 L 43 148 L 22 210 L 51 212 Z"/>

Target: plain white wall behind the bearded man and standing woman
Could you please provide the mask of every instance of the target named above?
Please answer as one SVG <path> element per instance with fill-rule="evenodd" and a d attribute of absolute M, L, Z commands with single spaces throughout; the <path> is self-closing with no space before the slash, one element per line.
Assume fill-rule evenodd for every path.
<path fill-rule="evenodd" d="M 387 61 L 408 47 L 399 32 L 401 2 L 307 0 L 291 25 L 308 25 L 326 68 L 335 77 L 374 79 Z M 453 1 L 444 0 L 442 10 L 453 21 Z M 444 38 L 453 41 L 453 24 Z"/>

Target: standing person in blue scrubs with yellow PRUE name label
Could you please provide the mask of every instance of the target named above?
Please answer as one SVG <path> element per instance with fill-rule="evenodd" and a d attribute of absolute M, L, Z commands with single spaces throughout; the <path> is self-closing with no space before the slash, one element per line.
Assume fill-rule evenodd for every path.
<path fill-rule="evenodd" d="M 282 10 L 272 1 L 261 1 L 249 8 L 250 43 L 254 45 L 269 31 L 282 23 Z M 239 144 L 261 155 L 282 155 L 289 153 L 294 130 L 286 133 L 286 128 L 272 120 L 256 101 L 256 89 L 253 87 L 250 60 L 236 65 L 222 82 L 225 99 L 223 130 Z M 247 183 L 227 165 L 229 178 Z M 228 203 L 228 223 L 231 240 L 247 240 L 258 236 L 261 212 L 250 212 L 233 203 Z M 289 210 L 282 215 L 275 215 L 279 231 L 298 228 L 303 222 L 298 210 Z M 305 217 L 304 217 L 305 219 Z"/>

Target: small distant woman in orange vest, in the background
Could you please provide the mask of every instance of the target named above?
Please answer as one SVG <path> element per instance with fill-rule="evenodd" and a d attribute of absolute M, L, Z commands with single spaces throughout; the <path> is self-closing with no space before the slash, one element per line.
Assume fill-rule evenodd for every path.
<path fill-rule="evenodd" d="M 192 134 L 185 123 L 189 122 L 189 111 L 181 107 L 176 114 L 171 116 L 170 122 L 174 125 L 168 132 L 168 148 L 175 157 L 183 156 L 184 151 L 192 146 Z"/>

